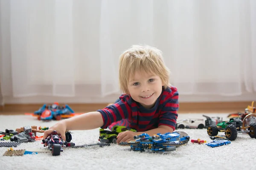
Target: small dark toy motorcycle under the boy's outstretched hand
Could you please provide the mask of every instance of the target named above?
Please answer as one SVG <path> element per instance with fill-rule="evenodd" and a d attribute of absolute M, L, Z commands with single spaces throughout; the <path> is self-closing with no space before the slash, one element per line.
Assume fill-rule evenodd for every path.
<path fill-rule="evenodd" d="M 54 130 L 50 137 L 42 140 L 43 144 L 47 143 L 48 148 L 52 151 L 52 156 L 59 156 L 63 152 L 63 145 L 67 145 L 68 142 L 58 136 L 56 130 Z M 45 146 L 45 145 L 44 145 Z"/>

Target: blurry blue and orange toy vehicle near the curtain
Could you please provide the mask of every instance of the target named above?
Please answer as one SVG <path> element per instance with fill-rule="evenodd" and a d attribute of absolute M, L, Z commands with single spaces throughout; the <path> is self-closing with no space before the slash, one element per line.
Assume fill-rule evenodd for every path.
<path fill-rule="evenodd" d="M 53 105 L 44 104 L 43 107 L 39 108 L 34 113 L 25 113 L 26 115 L 36 116 L 38 120 L 61 120 L 79 115 L 82 113 L 74 113 L 69 105 L 59 106 L 57 102 Z"/>

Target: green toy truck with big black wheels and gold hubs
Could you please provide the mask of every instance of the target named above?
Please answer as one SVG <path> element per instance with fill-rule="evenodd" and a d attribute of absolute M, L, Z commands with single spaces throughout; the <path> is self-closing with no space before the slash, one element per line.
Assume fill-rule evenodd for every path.
<path fill-rule="evenodd" d="M 256 123 L 251 123 L 247 127 L 242 127 L 242 124 L 240 118 L 231 118 L 227 122 L 210 125 L 207 128 L 207 133 L 209 136 L 217 136 L 218 132 L 225 132 L 226 138 L 230 141 L 236 140 L 238 133 L 248 133 L 251 138 L 256 138 Z"/>

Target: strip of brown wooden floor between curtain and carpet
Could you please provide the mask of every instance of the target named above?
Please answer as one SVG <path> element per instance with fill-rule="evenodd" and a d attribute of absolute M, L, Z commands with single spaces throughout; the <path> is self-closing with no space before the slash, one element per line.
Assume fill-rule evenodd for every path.
<path fill-rule="evenodd" d="M 62 104 L 60 104 L 62 105 Z M 68 104 L 76 113 L 87 113 L 105 108 L 108 103 L 100 104 Z M 236 113 L 243 112 L 248 102 L 180 102 L 178 113 Z M 0 114 L 24 114 L 37 111 L 42 104 L 6 104 L 0 106 Z"/>

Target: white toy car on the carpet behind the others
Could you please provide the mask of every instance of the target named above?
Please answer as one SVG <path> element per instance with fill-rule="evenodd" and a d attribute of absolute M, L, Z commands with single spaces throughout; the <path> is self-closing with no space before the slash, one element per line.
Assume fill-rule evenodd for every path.
<path fill-rule="evenodd" d="M 189 118 L 177 121 L 176 128 L 184 129 L 184 128 L 198 128 L 203 129 L 207 128 L 209 125 L 216 125 L 218 122 L 221 122 L 222 119 L 220 117 L 209 117 L 203 115 L 203 118 Z"/>

